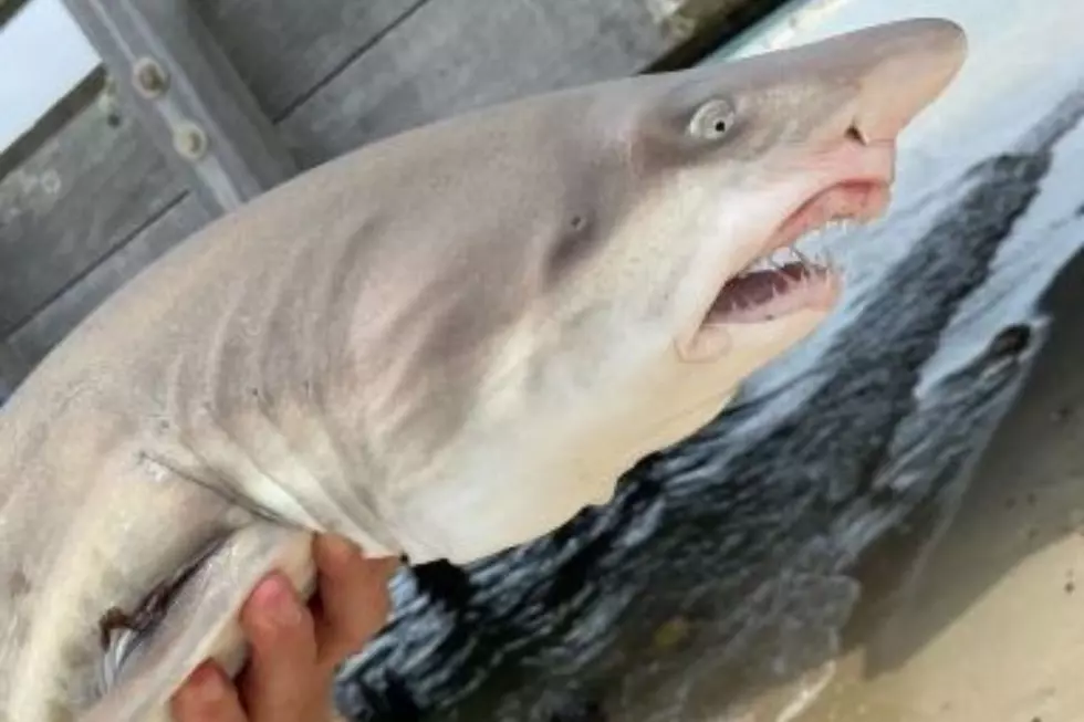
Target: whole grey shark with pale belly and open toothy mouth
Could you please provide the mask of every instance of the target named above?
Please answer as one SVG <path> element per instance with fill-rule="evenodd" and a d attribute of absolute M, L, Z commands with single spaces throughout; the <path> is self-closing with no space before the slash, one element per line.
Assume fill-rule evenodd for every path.
<path fill-rule="evenodd" d="M 463 564 L 604 503 L 832 312 L 764 260 L 883 212 L 965 54 L 924 19 L 514 101 L 187 239 L 0 412 L 0 721 L 168 719 L 313 533 Z"/>

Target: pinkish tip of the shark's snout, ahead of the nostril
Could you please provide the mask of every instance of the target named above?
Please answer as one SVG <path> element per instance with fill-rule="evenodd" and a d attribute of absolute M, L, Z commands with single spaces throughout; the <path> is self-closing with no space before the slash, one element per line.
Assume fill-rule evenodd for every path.
<path fill-rule="evenodd" d="M 895 140 L 949 85 L 967 56 L 963 29 L 948 20 L 892 23 L 856 40 L 853 129 L 867 144 Z"/>

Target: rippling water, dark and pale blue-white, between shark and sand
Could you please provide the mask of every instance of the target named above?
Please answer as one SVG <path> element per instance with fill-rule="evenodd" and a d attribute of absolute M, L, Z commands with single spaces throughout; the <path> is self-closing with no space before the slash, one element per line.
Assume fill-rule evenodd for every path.
<path fill-rule="evenodd" d="M 1046 337 L 1036 302 L 1084 247 L 1084 3 L 885 6 L 796 3 L 705 61 L 903 17 L 968 30 L 958 83 L 901 139 L 887 218 L 811 241 L 847 270 L 845 307 L 606 508 L 400 573 L 340 677 L 353 719 L 739 720 L 773 689 L 793 693 L 763 719 L 795 719 L 863 608 L 921 573 Z"/>

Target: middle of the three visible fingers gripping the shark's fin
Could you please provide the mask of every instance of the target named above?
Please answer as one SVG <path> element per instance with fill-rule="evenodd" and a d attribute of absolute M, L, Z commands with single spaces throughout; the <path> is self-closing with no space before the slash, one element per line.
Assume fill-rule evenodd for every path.
<path fill-rule="evenodd" d="M 316 669 L 313 619 L 290 582 L 272 574 L 252 592 L 241 610 L 241 626 L 252 646 L 239 680 L 253 722 L 305 719 L 325 680 Z"/>

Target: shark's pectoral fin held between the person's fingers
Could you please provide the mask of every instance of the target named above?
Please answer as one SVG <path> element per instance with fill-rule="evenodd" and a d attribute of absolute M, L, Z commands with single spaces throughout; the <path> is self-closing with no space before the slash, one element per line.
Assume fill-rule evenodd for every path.
<path fill-rule="evenodd" d="M 169 698 L 201 662 L 229 674 L 244 663 L 241 606 L 271 571 L 309 596 L 315 584 L 312 534 L 257 522 L 222 540 L 186 572 L 140 628 L 114 636 L 102 699 L 80 722 L 167 722 Z"/>

